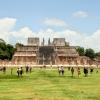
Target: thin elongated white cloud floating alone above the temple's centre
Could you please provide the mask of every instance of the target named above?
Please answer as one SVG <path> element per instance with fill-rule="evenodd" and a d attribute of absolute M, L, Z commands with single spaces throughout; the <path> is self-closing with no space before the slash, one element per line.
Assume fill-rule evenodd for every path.
<path fill-rule="evenodd" d="M 62 26 L 68 26 L 66 22 L 62 21 L 62 20 L 59 20 L 59 19 L 44 19 L 42 21 L 42 23 L 44 25 L 49 25 L 49 26 L 58 26 L 58 27 L 62 27 Z"/>

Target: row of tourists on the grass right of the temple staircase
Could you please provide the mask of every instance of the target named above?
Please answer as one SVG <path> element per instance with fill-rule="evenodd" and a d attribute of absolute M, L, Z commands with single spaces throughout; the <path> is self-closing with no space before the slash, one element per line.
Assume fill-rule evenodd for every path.
<path fill-rule="evenodd" d="M 90 75 L 92 75 L 92 73 L 93 73 L 93 70 L 94 70 L 94 68 L 93 67 L 90 67 Z M 74 76 L 74 68 L 73 67 L 68 67 L 68 71 L 71 71 L 71 75 L 72 75 L 72 77 Z M 83 68 L 83 72 L 84 72 L 84 77 L 87 77 L 88 76 L 88 67 L 84 67 Z M 96 68 L 96 73 L 98 73 L 98 68 Z M 61 66 L 61 67 L 58 67 L 58 74 L 59 75 L 64 75 L 64 68 L 63 68 L 63 66 Z M 80 75 L 81 75 L 81 70 L 80 70 L 80 68 L 78 67 L 77 68 L 77 74 L 78 74 L 78 77 L 80 77 Z"/>

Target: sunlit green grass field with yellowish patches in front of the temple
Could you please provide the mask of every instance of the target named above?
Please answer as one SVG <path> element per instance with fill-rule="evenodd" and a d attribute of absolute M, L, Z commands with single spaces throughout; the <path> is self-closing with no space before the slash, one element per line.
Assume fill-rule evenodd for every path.
<path fill-rule="evenodd" d="M 25 70 L 25 69 L 24 69 Z M 100 100 L 100 73 L 94 69 L 93 75 L 84 77 L 83 69 L 74 77 L 65 69 L 65 74 L 58 75 L 55 68 L 33 68 L 32 73 L 17 77 L 17 68 L 6 74 L 0 71 L 0 100 Z"/>

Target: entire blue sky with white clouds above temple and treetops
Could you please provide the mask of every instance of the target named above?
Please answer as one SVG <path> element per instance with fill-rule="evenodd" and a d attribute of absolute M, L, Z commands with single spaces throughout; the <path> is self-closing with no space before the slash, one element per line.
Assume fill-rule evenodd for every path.
<path fill-rule="evenodd" d="M 27 44 L 28 37 L 66 38 L 100 51 L 100 0 L 0 0 L 0 38 Z"/>

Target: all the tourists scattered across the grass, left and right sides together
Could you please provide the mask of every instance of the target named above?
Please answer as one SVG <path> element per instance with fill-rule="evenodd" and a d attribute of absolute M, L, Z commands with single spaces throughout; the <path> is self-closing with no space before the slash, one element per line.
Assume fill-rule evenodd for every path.
<path fill-rule="evenodd" d="M 88 76 L 88 73 L 89 73 L 89 71 L 88 71 L 88 67 L 84 67 L 83 68 L 83 73 L 84 73 L 84 77 L 87 77 Z M 99 69 L 99 67 L 97 66 L 97 68 L 96 68 L 96 73 L 98 73 L 98 69 Z M 4 74 L 6 73 L 6 67 L 5 66 L 3 66 L 3 67 L 0 67 L 0 71 L 2 71 Z M 26 71 L 26 74 L 28 73 L 28 72 L 32 72 L 32 66 L 25 66 L 25 71 Z M 71 76 L 73 77 L 74 76 L 74 67 L 68 67 L 68 71 L 71 71 Z M 94 68 L 93 67 L 90 67 L 90 75 L 92 75 L 93 74 L 93 71 L 94 71 Z M 18 69 L 17 69 L 17 74 L 18 74 L 18 77 L 22 77 L 22 74 L 24 73 L 24 70 L 23 70 L 23 68 L 22 67 L 18 67 Z M 64 73 L 65 73 L 65 71 L 64 71 L 64 68 L 63 68 L 63 66 L 59 66 L 58 67 L 58 74 L 59 75 L 64 75 Z M 13 74 L 13 68 L 11 67 L 11 74 Z M 78 67 L 77 68 L 77 74 L 78 74 L 78 77 L 80 77 L 80 75 L 81 75 L 81 70 L 80 70 L 80 67 Z"/>

